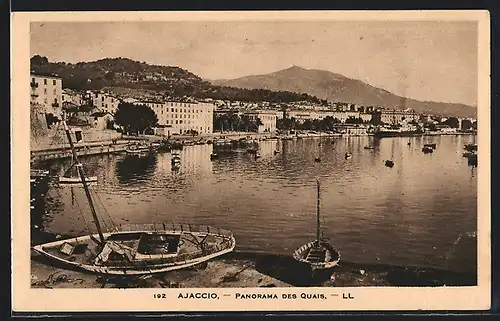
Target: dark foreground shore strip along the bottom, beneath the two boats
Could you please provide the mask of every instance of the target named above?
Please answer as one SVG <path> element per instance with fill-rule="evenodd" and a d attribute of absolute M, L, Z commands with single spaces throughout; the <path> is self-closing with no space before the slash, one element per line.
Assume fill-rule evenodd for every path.
<path fill-rule="evenodd" d="M 33 252 L 33 251 L 32 251 Z M 475 286 L 475 273 L 431 267 L 340 262 L 314 275 L 291 256 L 232 252 L 192 268 L 145 276 L 108 276 L 65 269 L 33 254 L 33 288 L 251 288 Z"/>

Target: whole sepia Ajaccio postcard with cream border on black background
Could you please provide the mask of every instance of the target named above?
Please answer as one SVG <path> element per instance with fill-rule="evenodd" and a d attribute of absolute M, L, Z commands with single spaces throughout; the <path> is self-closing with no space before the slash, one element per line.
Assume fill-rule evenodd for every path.
<path fill-rule="evenodd" d="M 489 16 L 367 13 L 19 14 L 23 291 L 487 307 Z"/>

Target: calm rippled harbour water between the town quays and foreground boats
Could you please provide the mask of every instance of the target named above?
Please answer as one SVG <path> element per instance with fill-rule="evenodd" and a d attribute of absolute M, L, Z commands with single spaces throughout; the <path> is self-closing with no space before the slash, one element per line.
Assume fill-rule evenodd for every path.
<path fill-rule="evenodd" d="M 319 142 L 321 141 L 321 145 Z M 241 151 L 211 161 L 211 145 L 171 154 L 84 159 L 105 227 L 182 222 L 231 229 L 237 249 L 291 254 L 315 237 L 316 179 L 324 236 L 343 260 L 476 270 L 477 169 L 461 157 L 469 136 L 316 138 L 260 143 L 255 160 Z M 410 142 L 411 145 L 407 143 Z M 437 143 L 433 154 L 422 145 Z M 373 145 L 373 150 L 363 147 Z M 274 154 L 274 151 L 280 151 Z M 353 157 L 346 160 L 345 152 Z M 314 161 L 318 155 L 321 163 Z M 384 160 L 395 166 L 384 166 Z M 62 171 L 68 162 L 51 165 Z M 87 234 L 81 187 L 51 187 L 44 228 Z"/>

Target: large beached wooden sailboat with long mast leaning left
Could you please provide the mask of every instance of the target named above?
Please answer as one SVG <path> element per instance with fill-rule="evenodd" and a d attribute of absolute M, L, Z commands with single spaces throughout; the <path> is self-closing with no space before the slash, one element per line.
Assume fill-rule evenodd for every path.
<path fill-rule="evenodd" d="M 36 252 L 92 273 L 144 275 L 198 265 L 234 250 L 231 231 L 208 226 L 133 224 L 104 233 L 69 128 L 63 124 L 98 233 L 39 244 L 33 247 Z"/>

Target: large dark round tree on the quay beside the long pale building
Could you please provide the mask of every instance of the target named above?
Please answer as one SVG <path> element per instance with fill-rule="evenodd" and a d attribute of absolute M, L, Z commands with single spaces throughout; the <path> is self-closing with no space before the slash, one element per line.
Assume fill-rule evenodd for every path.
<path fill-rule="evenodd" d="M 145 105 L 120 103 L 115 113 L 116 124 L 123 126 L 125 133 L 144 133 L 158 124 L 155 112 Z"/>

